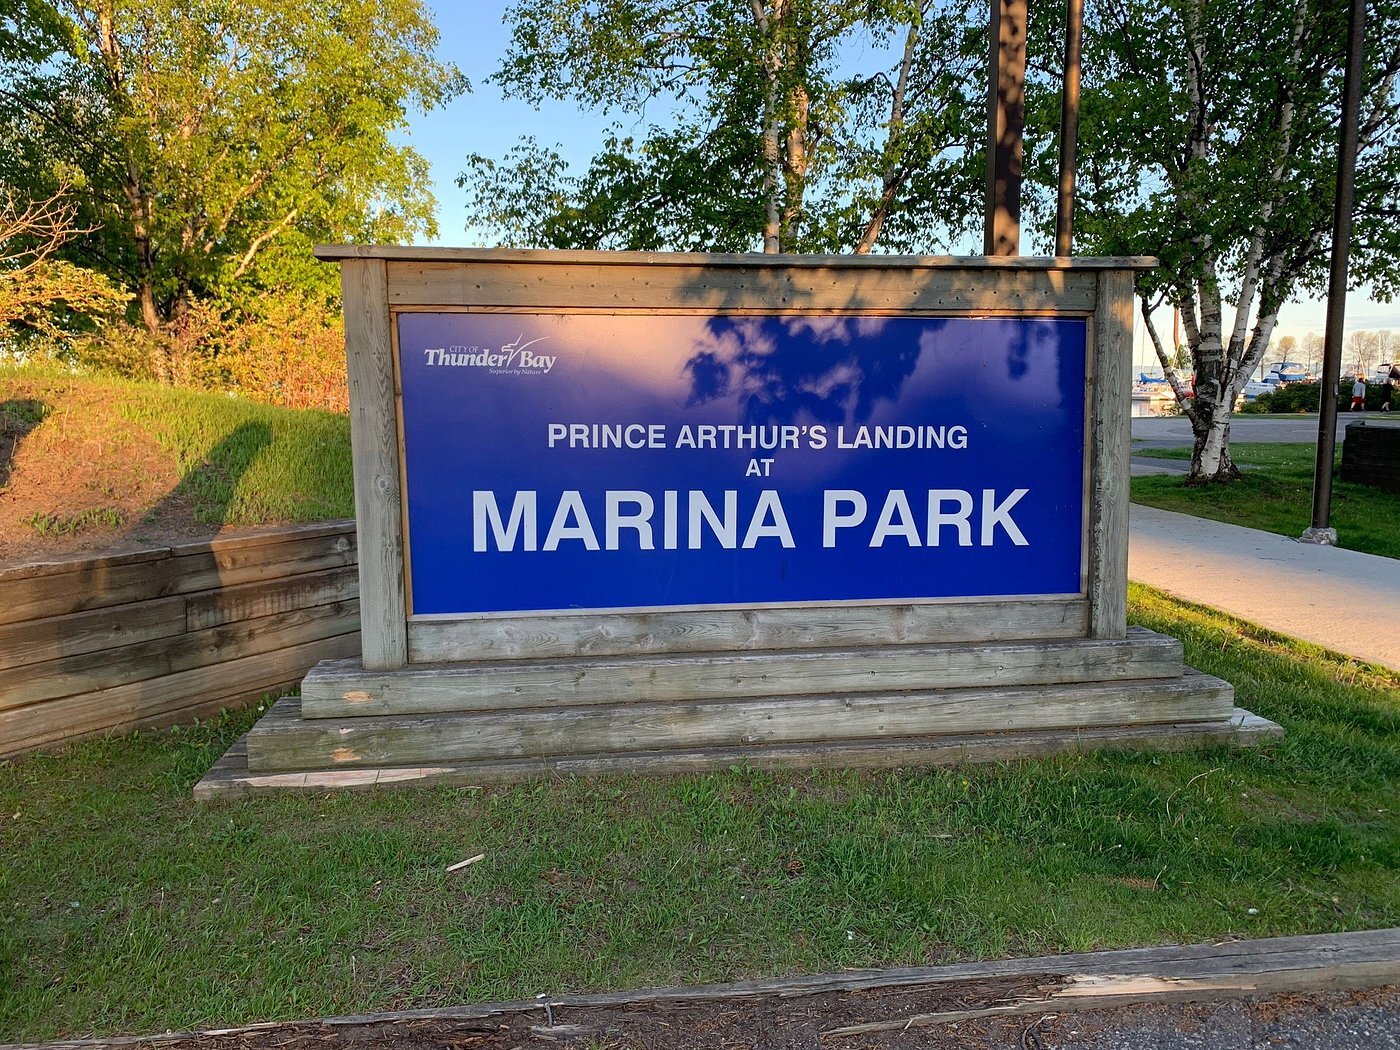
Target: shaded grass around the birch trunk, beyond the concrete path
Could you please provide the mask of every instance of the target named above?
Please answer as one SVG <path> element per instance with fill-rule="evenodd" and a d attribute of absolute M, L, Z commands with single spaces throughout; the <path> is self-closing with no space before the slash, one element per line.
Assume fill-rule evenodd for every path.
<path fill-rule="evenodd" d="M 1312 444 L 1232 444 L 1235 462 L 1250 469 L 1232 484 L 1187 487 L 1180 476 L 1133 479 L 1133 503 L 1298 538 L 1312 524 Z M 1154 459 L 1190 459 L 1189 448 L 1144 451 Z M 1337 462 L 1341 462 L 1338 449 Z M 1331 524 L 1337 545 L 1400 557 L 1400 496 L 1366 484 L 1333 482 Z"/>

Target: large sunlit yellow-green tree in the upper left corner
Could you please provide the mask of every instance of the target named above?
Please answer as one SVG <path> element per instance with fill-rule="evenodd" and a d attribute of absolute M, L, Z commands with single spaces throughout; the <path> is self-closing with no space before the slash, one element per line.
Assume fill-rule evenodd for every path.
<path fill-rule="evenodd" d="M 80 190 L 76 251 L 147 329 L 287 245 L 431 232 L 427 165 L 393 133 L 463 81 L 420 0 L 8 3 L 0 179 Z"/>

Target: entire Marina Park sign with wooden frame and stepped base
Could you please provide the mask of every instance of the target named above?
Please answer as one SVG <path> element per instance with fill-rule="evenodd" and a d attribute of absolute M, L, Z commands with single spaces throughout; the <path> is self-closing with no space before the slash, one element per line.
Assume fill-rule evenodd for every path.
<path fill-rule="evenodd" d="M 1127 627 L 1147 259 L 323 248 L 363 657 L 227 792 L 1277 727 Z"/>

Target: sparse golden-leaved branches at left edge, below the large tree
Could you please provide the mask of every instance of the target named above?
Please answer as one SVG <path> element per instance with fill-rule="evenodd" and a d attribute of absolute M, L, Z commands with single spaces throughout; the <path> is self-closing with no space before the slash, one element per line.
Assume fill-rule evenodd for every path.
<path fill-rule="evenodd" d="M 62 195 L 20 202 L 0 192 L 0 328 L 57 336 L 130 300 L 102 274 L 56 258 L 84 232 L 74 225 L 76 211 Z"/>

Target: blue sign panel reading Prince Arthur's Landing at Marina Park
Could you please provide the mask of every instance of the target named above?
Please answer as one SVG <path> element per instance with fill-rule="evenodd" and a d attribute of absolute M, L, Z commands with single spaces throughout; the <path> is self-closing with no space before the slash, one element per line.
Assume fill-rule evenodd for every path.
<path fill-rule="evenodd" d="M 414 615 L 1082 594 L 1082 319 L 398 335 Z"/>

